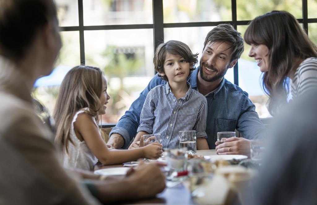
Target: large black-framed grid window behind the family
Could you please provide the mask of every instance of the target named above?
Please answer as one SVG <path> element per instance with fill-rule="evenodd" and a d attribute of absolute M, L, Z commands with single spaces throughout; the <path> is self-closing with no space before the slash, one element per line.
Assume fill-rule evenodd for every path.
<path fill-rule="evenodd" d="M 230 23 L 243 36 L 247 23 L 256 16 L 271 10 L 286 10 L 303 23 L 309 37 L 317 43 L 315 0 L 307 0 L 307 10 L 302 9 L 302 0 L 236 0 L 235 5 L 230 0 L 55 2 L 63 47 L 53 73 L 36 81 L 33 95 L 52 114 L 59 85 L 70 68 L 80 64 L 100 67 L 111 95 L 103 123 L 116 123 L 151 80 L 155 74 L 154 45 L 159 42 L 182 41 L 193 53 L 199 53 L 200 60 L 204 39 L 217 24 Z M 308 14 L 308 19 L 303 13 Z M 225 78 L 248 92 L 259 116 L 266 118 L 270 116 L 266 108 L 268 97 L 262 90 L 262 73 L 248 56 L 249 49 L 245 44 L 238 69 L 229 69 Z"/>

